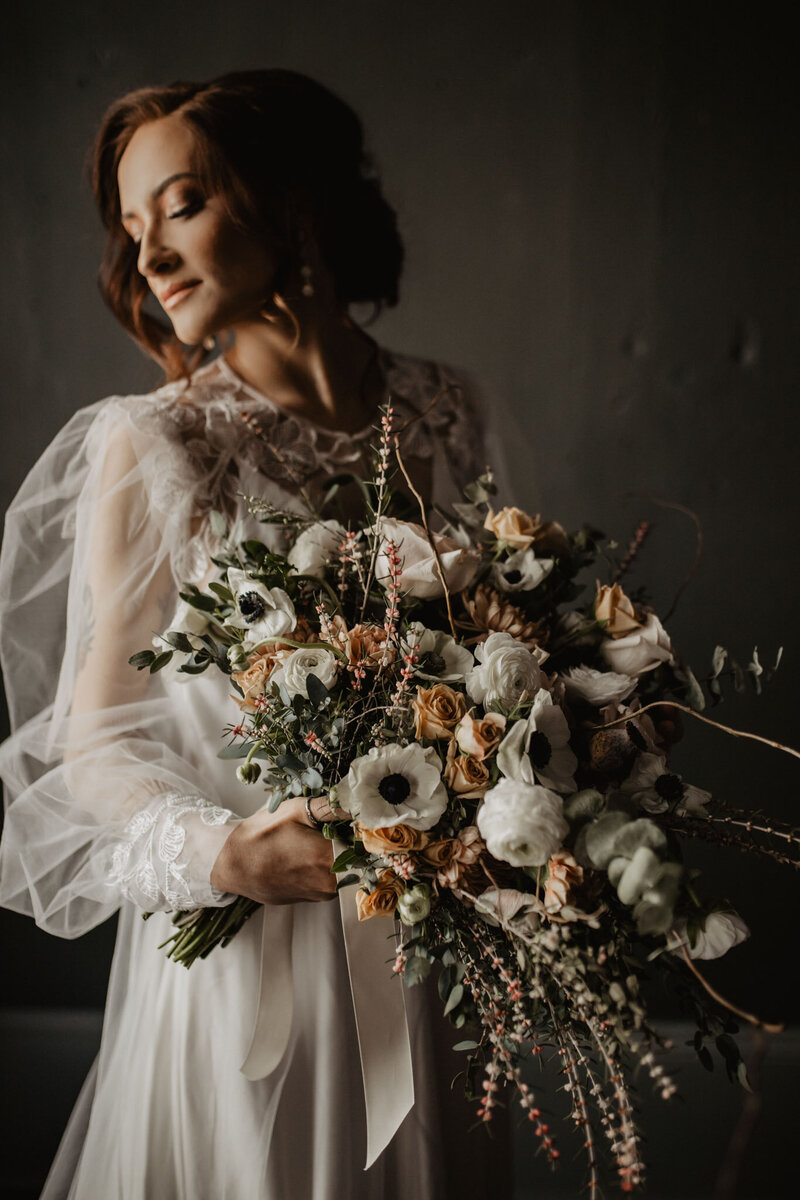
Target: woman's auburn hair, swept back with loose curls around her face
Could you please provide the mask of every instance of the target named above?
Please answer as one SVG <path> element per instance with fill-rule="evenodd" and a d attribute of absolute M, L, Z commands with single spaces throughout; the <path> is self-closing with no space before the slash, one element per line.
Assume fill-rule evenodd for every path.
<path fill-rule="evenodd" d="M 139 88 L 106 112 L 90 152 L 95 200 L 108 238 L 101 294 L 121 325 L 163 367 L 191 376 L 203 347 L 185 347 L 169 324 L 145 312 L 151 294 L 138 251 L 120 215 L 116 173 L 125 149 L 149 121 L 180 113 L 192 130 L 196 167 L 207 194 L 221 196 L 230 220 L 269 239 L 277 257 L 272 302 L 296 254 L 296 214 L 311 217 L 323 263 L 343 305 L 371 302 L 377 316 L 396 305 L 403 242 L 385 200 L 363 128 L 353 109 L 296 71 L 234 71 L 206 83 Z"/>

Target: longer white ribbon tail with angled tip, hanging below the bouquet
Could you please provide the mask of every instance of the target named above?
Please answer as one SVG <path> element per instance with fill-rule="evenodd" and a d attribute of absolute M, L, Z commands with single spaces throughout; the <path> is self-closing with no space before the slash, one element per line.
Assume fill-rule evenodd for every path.
<path fill-rule="evenodd" d="M 385 917 L 360 922 L 355 888 L 339 889 L 339 906 L 367 1114 L 366 1171 L 414 1106 L 414 1074 L 403 982 L 386 961 L 393 956 L 387 936 L 393 923 Z"/>

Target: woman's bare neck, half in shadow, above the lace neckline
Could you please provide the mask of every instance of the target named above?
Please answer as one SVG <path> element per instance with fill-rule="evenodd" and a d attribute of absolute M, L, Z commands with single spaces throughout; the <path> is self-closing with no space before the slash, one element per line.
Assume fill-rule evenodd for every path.
<path fill-rule="evenodd" d="M 225 360 L 289 412 L 329 428 L 363 428 L 385 398 L 377 343 L 338 311 L 297 306 L 296 314 L 296 343 L 283 324 L 257 318 L 231 331 Z"/>

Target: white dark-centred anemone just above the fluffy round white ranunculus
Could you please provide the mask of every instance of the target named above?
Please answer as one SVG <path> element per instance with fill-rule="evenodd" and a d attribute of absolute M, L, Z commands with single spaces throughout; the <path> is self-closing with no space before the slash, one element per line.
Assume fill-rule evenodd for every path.
<path fill-rule="evenodd" d="M 528 716 L 515 721 L 504 737 L 497 762 L 507 779 L 575 792 L 578 760 L 570 746 L 570 726 L 546 688 L 536 692 Z"/>

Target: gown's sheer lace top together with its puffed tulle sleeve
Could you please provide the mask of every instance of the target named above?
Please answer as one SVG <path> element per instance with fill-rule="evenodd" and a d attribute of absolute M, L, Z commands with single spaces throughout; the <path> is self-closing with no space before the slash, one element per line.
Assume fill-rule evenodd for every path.
<path fill-rule="evenodd" d="M 427 473 L 420 490 L 458 499 L 486 466 L 474 385 L 387 350 L 379 362 L 404 460 Z M 297 508 L 301 488 L 357 468 L 374 440 L 372 424 L 347 434 L 288 413 L 222 359 L 190 383 L 79 409 L 56 436 L 11 505 L 0 560 L 14 730 L 0 748 L 12 802 L 0 902 L 76 936 L 121 898 L 150 911 L 233 900 L 211 868 L 254 800 L 211 766 L 225 696 L 193 726 L 203 689 L 182 704 L 167 677 L 127 660 L 212 570 L 212 510 L 243 521 L 242 494 Z"/>

